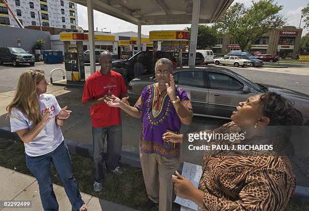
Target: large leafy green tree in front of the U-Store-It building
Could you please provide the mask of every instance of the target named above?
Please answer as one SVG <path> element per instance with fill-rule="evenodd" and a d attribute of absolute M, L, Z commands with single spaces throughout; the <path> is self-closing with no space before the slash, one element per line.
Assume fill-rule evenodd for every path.
<path fill-rule="evenodd" d="M 239 44 L 242 51 L 249 50 L 251 43 L 258 37 L 282 27 L 286 22 L 279 14 L 283 6 L 274 3 L 274 0 L 251 3 L 249 8 L 236 3 L 215 24 L 219 32 L 227 33 L 230 39 Z"/>

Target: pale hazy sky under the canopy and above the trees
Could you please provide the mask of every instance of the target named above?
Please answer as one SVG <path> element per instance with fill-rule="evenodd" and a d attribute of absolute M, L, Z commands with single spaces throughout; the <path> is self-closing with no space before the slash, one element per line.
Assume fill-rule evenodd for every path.
<path fill-rule="evenodd" d="M 251 4 L 249 0 L 235 0 L 233 4 L 236 2 L 243 3 L 246 6 Z M 292 26 L 299 26 L 301 9 L 306 6 L 308 0 L 278 0 L 279 5 L 283 5 L 283 10 L 281 13 L 284 17 L 288 19 L 287 24 Z M 83 29 L 88 29 L 87 23 L 87 8 L 81 5 L 77 6 L 77 15 L 78 15 L 78 25 Z M 304 23 L 300 24 L 302 28 Z M 185 27 L 190 26 L 186 24 L 180 25 L 152 25 L 152 26 L 142 26 L 142 33 L 148 35 L 151 30 L 182 30 Z M 106 15 L 104 13 L 100 13 L 94 11 L 94 30 L 98 28 L 98 31 L 101 28 L 106 28 L 104 31 L 111 32 L 122 32 L 122 31 L 135 31 L 137 32 L 137 26 L 126 21 L 114 18 L 112 16 Z M 308 29 L 303 29 L 302 35 L 306 34 Z"/>

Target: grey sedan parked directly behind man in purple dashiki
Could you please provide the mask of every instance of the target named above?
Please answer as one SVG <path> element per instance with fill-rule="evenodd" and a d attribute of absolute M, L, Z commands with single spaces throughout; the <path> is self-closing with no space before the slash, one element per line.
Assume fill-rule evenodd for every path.
<path fill-rule="evenodd" d="M 309 124 L 309 95 L 282 87 L 254 83 L 243 76 L 220 67 L 174 69 L 174 80 L 183 88 L 191 102 L 195 116 L 230 119 L 238 102 L 249 96 L 274 91 L 295 103 Z M 129 83 L 128 95 L 136 102 L 146 85 L 156 83 L 153 75 L 144 75 Z"/>

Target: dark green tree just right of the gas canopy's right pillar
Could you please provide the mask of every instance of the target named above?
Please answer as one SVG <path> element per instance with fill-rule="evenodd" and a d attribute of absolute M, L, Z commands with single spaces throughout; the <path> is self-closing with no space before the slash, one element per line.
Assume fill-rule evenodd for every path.
<path fill-rule="evenodd" d="M 191 32 L 191 27 L 184 30 Z M 198 25 L 196 49 L 213 47 L 218 43 L 218 31 L 214 26 Z"/>

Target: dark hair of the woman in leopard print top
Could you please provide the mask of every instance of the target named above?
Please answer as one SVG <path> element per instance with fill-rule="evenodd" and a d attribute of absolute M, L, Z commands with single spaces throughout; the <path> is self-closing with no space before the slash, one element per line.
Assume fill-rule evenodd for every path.
<path fill-rule="evenodd" d="M 293 103 L 276 92 L 267 92 L 260 96 L 260 111 L 270 119 L 271 126 L 298 126 L 303 124 L 300 111 Z"/>

